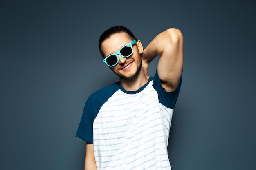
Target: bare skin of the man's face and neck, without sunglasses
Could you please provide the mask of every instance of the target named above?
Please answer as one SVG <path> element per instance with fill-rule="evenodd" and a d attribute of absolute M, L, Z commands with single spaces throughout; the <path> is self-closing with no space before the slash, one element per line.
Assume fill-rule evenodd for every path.
<path fill-rule="evenodd" d="M 101 50 L 106 57 L 112 53 L 116 53 L 122 46 L 131 41 L 132 39 L 126 33 L 116 33 L 102 42 Z M 110 67 L 110 69 L 120 77 L 120 84 L 127 91 L 135 91 L 139 89 L 146 84 L 149 77 L 144 74 L 142 69 L 140 69 L 142 65 L 141 54 L 143 52 L 141 41 L 138 40 L 132 48 L 133 54 L 130 57 L 123 58 L 118 55 L 119 63 Z M 126 66 L 129 67 L 124 69 Z"/>

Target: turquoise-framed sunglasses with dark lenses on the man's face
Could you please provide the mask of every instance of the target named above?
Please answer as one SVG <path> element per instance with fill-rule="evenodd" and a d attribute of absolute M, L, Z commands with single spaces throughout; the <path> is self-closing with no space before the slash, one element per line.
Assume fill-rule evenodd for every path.
<path fill-rule="evenodd" d="M 117 51 L 114 54 L 108 55 L 108 57 L 104 58 L 102 61 L 109 67 L 117 65 L 117 63 L 119 62 L 118 55 L 120 55 L 123 58 L 130 57 L 133 53 L 132 44 L 136 44 L 136 42 L 136 40 L 133 40 L 132 42 L 122 46 L 122 48 L 119 51 Z"/>

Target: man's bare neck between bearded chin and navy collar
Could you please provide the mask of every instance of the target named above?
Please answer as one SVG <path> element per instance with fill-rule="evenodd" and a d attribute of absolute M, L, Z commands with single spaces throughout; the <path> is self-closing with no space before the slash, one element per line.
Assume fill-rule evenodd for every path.
<path fill-rule="evenodd" d="M 120 84 L 126 91 L 137 91 L 148 82 L 148 75 L 145 75 L 141 70 L 140 73 L 134 79 L 127 80 L 120 78 Z"/>

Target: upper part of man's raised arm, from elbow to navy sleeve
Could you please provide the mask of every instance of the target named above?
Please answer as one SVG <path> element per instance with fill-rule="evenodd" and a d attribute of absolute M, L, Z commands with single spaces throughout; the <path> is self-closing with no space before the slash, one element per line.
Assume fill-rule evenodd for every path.
<path fill-rule="evenodd" d="M 183 67 L 183 37 L 178 29 L 168 29 L 158 37 L 159 51 L 161 55 L 157 72 L 166 91 L 177 88 Z"/>

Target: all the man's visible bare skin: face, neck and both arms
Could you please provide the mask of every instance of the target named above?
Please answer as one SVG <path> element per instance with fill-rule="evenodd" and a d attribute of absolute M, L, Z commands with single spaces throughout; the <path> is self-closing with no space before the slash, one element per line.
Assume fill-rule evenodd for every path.
<path fill-rule="evenodd" d="M 126 33 L 116 33 L 101 44 L 101 49 L 106 57 L 131 41 Z M 160 56 L 157 72 L 162 87 L 168 92 L 177 88 L 183 67 L 183 37 L 180 30 L 171 28 L 163 31 L 145 49 L 140 40 L 132 47 L 134 52 L 130 57 L 119 56 L 119 63 L 110 67 L 120 77 L 124 89 L 136 91 L 148 82 L 148 64 L 157 55 Z M 128 68 L 124 69 L 126 66 Z M 96 169 L 93 144 L 86 143 L 85 170 Z"/>

